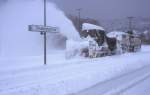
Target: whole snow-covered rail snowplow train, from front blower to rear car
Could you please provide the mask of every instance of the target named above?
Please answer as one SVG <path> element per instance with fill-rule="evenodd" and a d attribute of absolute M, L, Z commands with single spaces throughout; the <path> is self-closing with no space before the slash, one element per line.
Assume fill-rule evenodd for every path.
<path fill-rule="evenodd" d="M 102 57 L 126 52 L 137 52 L 141 49 L 141 39 L 120 31 L 106 33 L 103 27 L 83 23 L 82 40 L 67 41 L 66 56 Z"/>

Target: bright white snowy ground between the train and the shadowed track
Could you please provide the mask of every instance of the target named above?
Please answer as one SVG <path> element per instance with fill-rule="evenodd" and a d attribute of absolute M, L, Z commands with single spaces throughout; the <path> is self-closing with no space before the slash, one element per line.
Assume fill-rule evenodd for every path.
<path fill-rule="evenodd" d="M 64 52 L 41 57 L 0 59 L 0 95 L 67 95 L 150 65 L 150 46 L 141 52 L 96 59 L 65 60 Z M 37 60 L 38 59 L 38 60 Z"/>

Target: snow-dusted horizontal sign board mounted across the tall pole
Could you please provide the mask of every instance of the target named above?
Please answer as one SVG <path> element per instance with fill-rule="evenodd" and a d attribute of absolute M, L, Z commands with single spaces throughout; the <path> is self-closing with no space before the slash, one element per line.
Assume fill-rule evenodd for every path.
<path fill-rule="evenodd" d="M 58 33 L 58 27 L 44 26 L 44 25 L 29 25 L 29 31 L 35 32 L 49 32 L 49 33 Z"/>

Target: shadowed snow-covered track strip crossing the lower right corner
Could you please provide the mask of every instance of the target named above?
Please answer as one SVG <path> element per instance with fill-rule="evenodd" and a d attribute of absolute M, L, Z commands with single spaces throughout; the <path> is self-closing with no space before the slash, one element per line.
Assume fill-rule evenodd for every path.
<path fill-rule="evenodd" d="M 150 65 L 111 80 L 100 82 L 72 95 L 121 95 L 147 78 L 150 78 Z"/>

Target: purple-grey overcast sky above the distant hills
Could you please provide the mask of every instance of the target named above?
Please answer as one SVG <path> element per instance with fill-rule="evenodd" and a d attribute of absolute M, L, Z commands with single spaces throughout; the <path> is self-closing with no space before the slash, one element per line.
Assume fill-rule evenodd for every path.
<path fill-rule="evenodd" d="M 125 18 L 127 16 L 150 17 L 150 0 L 50 0 L 67 14 L 77 14 L 82 8 L 82 17 L 96 19 Z"/>

